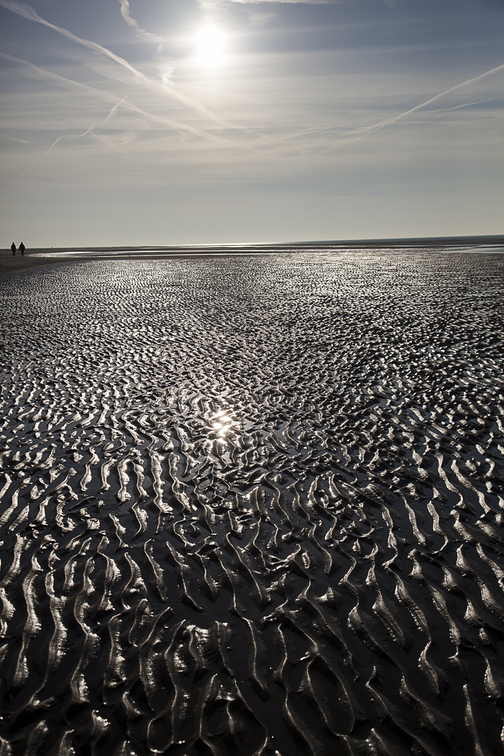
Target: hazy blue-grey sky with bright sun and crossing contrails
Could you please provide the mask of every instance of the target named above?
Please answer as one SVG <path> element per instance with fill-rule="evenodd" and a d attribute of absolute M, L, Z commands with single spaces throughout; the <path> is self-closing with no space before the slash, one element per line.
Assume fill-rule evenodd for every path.
<path fill-rule="evenodd" d="M 8 247 L 504 233 L 502 0 L 0 0 Z"/>

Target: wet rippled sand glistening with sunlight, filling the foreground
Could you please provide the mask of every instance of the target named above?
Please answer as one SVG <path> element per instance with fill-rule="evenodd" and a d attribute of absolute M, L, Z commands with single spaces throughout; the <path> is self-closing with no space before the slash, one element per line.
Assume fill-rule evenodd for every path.
<path fill-rule="evenodd" d="M 0 277 L 0 753 L 499 754 L 504 255 Z"/>

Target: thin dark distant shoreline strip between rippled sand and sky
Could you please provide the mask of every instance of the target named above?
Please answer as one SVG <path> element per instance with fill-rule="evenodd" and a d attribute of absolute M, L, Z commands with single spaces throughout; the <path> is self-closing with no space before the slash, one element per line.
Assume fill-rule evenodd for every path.
<path fill-rule="evenodd" d="M 296 251 L 316 251 L 334 249 L 396 249 L 400 247 L 425 248 L 460 247 L 495 247 L 504 248 L 504 235 L 471 236 L 471 237 L 407 237 L 392 239 L 351 239 L 351 240 L 322 240 L 298 241 L 283 243 L 228 243 L 228 244 L 177 244 L 165 246 L 79 246 L 79 247 L 36 247 L 26 250 L 23 257 L 17 252 L 13 256 L 11 249 L 0 249 L 0 275 L 18 273 L 30 268 L 41 268 L 46 265 L 62 265 L 68 262 L 85 262 L 93 259 L 107 259 L 113 255 L 114 259 L 146 259 L 157 256 L 194 256 L 194 255 L 225 255 L 225 254 L 261 254 L 261 253 L 289 253 Z M 462 250 L 460 250 L 462 251 Z M 481 250 L 484 251 L 484 250 Z M 504 249 L 502 249 L 504 252 Z M 123 254 L 122 254 L 123 253 Z M 86 255 L 86 257 L 83 257 Z M 59 258 L 59 259 L 58 259 Z"/>

